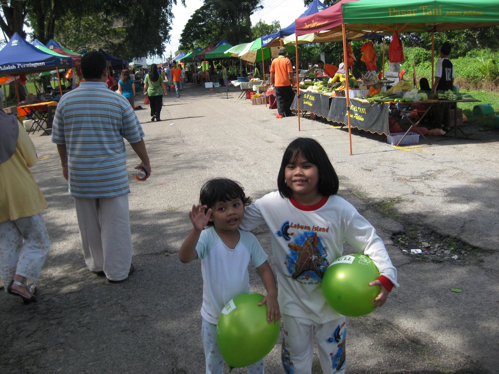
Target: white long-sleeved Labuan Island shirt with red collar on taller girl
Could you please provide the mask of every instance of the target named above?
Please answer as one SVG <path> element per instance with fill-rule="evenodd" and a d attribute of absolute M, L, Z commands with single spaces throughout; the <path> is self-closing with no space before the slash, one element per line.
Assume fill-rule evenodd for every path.
<path fill-rule="evenodd" d="M 374 261 L 390 289 L 398 287 L 397 270 L 376 230 L 352 204 L 337 195 L 304 206 L 282 197 L 278 191 L 267 193 L 246 209 L 240 227 L 251 230 L 263 223 L 271 233 L 282 314 L 315 323 L 340 317 L 324 299 L 322 276 L 329 264 L 342 255 L 344 242 Z"/>

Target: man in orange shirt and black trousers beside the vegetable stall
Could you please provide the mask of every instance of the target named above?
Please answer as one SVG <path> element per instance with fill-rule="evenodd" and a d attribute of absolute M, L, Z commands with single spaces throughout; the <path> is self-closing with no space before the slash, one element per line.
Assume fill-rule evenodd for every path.
<path fill-rule="evenodd" d="M 292 116 L 291 104 L 294 98 L 293 68 L 287 56 L 285 47 L 279 48 L 279 55 L 272 60 L 270 65 L 270 84 L 275 87 L 277 101 L 277 118 Z M 280 116 L 280 117 L 279 117 Z"/>

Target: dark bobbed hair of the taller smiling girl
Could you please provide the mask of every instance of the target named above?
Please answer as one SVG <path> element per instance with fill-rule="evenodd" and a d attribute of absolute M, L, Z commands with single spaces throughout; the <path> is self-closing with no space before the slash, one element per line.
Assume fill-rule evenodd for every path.
<path fill-rule="evenodd" d="M 315 140 L 310 138 L 296 138 L 287 146 L 282 156 L 282 162 L 277 175 L 277 188 L 282 197 L 291 197 L 293 190 L 285 183 L 286 166 L 294 163 L 301 156 L 309 163 L 314 164 L 319 173 L 317 190 L 322 196 L 338 193 L 338 176 L 334 171 L 326 151 Z"/>

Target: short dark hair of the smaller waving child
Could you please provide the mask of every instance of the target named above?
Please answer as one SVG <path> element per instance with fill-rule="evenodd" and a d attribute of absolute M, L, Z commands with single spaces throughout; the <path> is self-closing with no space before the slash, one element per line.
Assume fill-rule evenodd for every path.
<path fill-rule="evenodd" d="M 228 178 L 215 178 L 206 182 L 201 187 L 199 193 L 199 202 L 206 205 L 205 213 L 209 208 L 213 208 L 217 201 L 230 201 L 240 198 L 245 206 L 250 205 L 251 197 L 246 196 L 245 188 L 238 182 Z M 208 226 L 213 225 L 213 222 L 208 222 Z"/>

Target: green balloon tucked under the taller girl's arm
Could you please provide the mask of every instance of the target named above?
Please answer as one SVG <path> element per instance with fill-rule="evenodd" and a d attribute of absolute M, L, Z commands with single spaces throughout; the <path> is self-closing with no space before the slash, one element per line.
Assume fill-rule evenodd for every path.
<path fill-rule="evenodd" d="M 327 303 L 347 317 L 365 316 L 380 286 L 369 286 L 379 278 L 379 270 L 369 256 L 349 254 L 331 262 L 322 278 L 322 293 Z"/>

